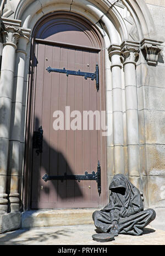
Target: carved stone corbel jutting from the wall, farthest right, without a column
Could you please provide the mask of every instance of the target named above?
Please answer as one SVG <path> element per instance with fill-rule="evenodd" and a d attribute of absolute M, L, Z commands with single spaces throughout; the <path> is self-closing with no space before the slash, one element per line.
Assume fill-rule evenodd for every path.
<path fill-rule="evenodd" d="M 145 59 L 149 65 L 156 66 L 158 55 L 163 49 L 162 43 L 162 41 L 151 39 L 143 39 L 140 42 L 141 50 L 145 53 Z"/>

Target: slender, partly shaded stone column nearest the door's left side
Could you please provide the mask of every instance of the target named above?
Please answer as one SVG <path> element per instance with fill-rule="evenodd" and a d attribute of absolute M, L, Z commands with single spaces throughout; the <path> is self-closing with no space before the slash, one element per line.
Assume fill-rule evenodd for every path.
<path fill-rule="evenodd" d="M 26 45 L 29 42 L 30 31 L 22 29 L 18 41 L 13 85 L 12 118 L 10 123 L 10 141 L 8 157 L 8 182 L 10 211 L 19 211 L 19 184 L 22 177 L 21 159 L 21 121 L 23 110 L 24 71 L 26 60 Z"/>

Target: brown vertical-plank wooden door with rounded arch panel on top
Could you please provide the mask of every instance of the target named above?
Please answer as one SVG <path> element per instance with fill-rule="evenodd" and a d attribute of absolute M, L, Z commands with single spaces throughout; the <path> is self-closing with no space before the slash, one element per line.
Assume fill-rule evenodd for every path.
<path fill-rule="evenodd" d="M 52 67 L 94 73 L 100 68 L 100 89 L 96 81 L 83 76 L 48 73 Z M 89 24 L 67 13 L 57 13 L 37 25 L 32 50 L 31 139 L 40 126 L 43 129 L 42 153 L 32 151 L 31 208 L 96 208 L 105 204 L 106 148 L 102 131 L 83 129 L 83 111 L 105 110 L 101 43 Z M 66 108 L 67 107 L 67 108 Z M 67 111 L 79 111 L 81 129 Z M 64 114 L 63 129 L 56 130 L 55 111 Z M 57 113 L 57 112 L 56 112 Z M 69 113 L 69 112 L 68 112 Z M 70 117 L 69 117 L 70 116 Z M 57 116 L 56 116 L 57 117 Z M 59 116 L 58 116 L 59 117 Z M 68 127 L 68 119 L 73 121 Z M 95 120 L 95 118 L 94 118 Z M 67 123 L 67 124 L 66 124 Z M 80 124 L 80 123 L 79 123 Z M 42 177 L 84 175 L 97 172 L 101 164 L 101 197 L 96 181 L 51 180 Z"/>

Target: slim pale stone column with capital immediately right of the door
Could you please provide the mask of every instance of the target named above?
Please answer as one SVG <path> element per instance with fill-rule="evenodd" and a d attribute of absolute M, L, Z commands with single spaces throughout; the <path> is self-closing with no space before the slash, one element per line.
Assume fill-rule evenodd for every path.
<path fill-rule="evenodd" d="M 113 142 L 114 142 L 114 173 L 124 174 L 124 130 L 122 105 L 122 63 L 120 46 L 111 45 L 108 49 L 112 72 L 113 95 Z"/>

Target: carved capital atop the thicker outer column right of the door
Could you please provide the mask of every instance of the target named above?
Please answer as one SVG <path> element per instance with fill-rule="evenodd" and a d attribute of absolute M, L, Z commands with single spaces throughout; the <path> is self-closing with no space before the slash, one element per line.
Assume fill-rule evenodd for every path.
<path fill-rule="evenodd" d="M 127 63 L 133 63 L 136 66 L 139 57 L 140 43 L 134 41 L 124 41 L 120 45 L 123 66 Z"/>

